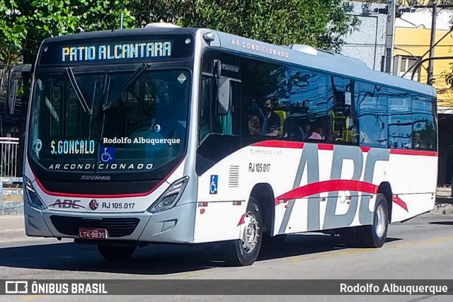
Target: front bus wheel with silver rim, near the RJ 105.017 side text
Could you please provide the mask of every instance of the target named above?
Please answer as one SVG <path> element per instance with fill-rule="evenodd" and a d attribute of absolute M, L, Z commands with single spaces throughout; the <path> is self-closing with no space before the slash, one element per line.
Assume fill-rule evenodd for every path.
<path fill-rule="evenodd" d="M 229 243 L 226 263 L 234 266 L 253 265 L 258 258 L 263 239 L 263 219 L 260 206 L 255 198 L 248 200 L 241 239 Z"/>

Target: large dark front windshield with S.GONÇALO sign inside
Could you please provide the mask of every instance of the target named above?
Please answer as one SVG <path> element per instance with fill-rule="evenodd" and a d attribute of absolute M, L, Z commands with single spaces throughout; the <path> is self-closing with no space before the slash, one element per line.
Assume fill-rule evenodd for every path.
<path fill-rule="evenodd" d="M 35 79 L 33 161 L 47 170 L 137 172 L 183 156 L 190 71 L 62 70 Z"/>

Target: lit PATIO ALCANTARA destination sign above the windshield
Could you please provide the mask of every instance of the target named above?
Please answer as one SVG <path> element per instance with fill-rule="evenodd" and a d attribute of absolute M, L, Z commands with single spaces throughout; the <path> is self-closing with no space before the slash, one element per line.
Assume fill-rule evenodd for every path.
<path fill-rule="evenodd" d="M 171 41 L 62 47 L 62 62 L 93 62 L 171 57 Z"/>

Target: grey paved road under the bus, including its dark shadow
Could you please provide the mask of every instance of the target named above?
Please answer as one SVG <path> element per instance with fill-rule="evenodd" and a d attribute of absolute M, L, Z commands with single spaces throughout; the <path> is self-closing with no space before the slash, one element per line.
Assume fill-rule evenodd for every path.
<path fill-rule="evenodd" d="M 13 221 L 14 218 L 11 218 Z M 0 219 L 1 220 L 1 219 Z M 0 221 L 0 226 L 8 224 Z M 102 259 L 96 247 L 69 240 L 26 238 L 10 223 L 0 236 L 0 279 L 452 279 L 453 216 L 427 214 L 390 226 L 384 248 L 346 249 L 338 238 L 319 234 L 287 236 L 280 245 L 265 245 L 252 267 L 224 267 L 201 248 L 148 245 L 124 263 Z M 8 224 L 8 225 L 10 225 Z M 4 227 L 5 228 L 5 227 Z M 210 258 L 208 260 L 207 258 Z M 11 299 L 14 298 L 14 299 Z M 0 301 L 60 301 L 57 296 L 0 297 Z M 82 298 L 82 299 L 81 299 Z M 97 297 L 122 301 L 125 297 Z M 270 296 L 166 296 L 160 301 L 273 301 Z M 312 297 L 319 300 L 321 296 Z M 362 297 L 363 298 L 363 297 Z M 450 301 L 446 296 L 392 296 L 396 301 Z M 416 300 L 413 300 L 416 298 Z M 357 296 L 323 296 L 323 301 L 359 300 Z M 379 301 L 368 296 L 367 301 Z M 127 298 L 142 301 L 140 296 Z M 282 296 L 281 301 L 296 301 Z M 309 299 L 311 300 L 311 299 Z M 65 296 L 64 301 L 92 301 Z"/>

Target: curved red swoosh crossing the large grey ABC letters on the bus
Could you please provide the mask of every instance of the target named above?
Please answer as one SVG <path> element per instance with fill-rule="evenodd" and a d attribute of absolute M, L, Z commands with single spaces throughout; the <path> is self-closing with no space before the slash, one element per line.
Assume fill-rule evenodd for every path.
<path fill-rule="evenodd" d="M 362 182 L 360 180 L 326 180 L 322 182 L 313 182 L 286 192 L 275 198 L 275 204 L 280 204 L 281 200 L 300 199 L 323 192 L 357 191 L 377 194 L 378 189 L 379 187 L 377 185 L 373 185 L 369 182 Z M 406 202 L 403 202 L 401 198 L 396 197 L 393 199 L 393 202 L 408 211 Z"/>

